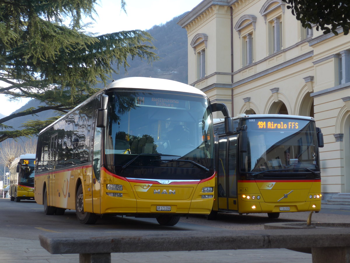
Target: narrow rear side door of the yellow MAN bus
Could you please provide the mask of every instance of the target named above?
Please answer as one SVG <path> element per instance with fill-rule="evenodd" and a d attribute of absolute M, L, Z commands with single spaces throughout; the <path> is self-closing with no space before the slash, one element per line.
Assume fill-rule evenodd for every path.
<path fill-rule="evenodd" d="M 58 133 L 51 136 L 50 153 L 49 153 L 49 176 L 48 176 L 48 204 L 55 206 L 55 169 L 56 169 L 56 150 L 57 150 Z"/>

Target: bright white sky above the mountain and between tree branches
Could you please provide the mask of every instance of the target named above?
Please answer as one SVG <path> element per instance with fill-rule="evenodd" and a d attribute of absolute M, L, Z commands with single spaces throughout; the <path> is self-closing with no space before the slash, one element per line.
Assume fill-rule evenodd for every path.
<path fill-rule="evenodd" d="M 96 22 L 88 31 L 106 34 L 123 30 L 150 29 L 165 24 L 175 16 L 191 11 L 202 0 L 126 0 L 126 14 L 121 10 L 120 0 L 100 0 L 95 6 Z M 86 19 L 84 22 L 90 22 Z M 1 86 L 1 85 L 0 85 Z M 28 102 L 28 99 L 9 102 L 0 94 L 0 113 L 10 115 Z"/>

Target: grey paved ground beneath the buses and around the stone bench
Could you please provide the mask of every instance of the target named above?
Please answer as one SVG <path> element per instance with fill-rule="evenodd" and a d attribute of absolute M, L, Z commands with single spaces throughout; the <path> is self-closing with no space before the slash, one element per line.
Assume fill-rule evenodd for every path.
<path fill-rule="evenodd" d="M 45 232 L 117 233 L 120 230 L 212 230 L 217 228 L 244 230 L 264 229 L 265 223 L 306 222 L 308 212 L 283 213 L 278 219 L 266 214 L 219 214 L 218 219 L 208 221 L 204 216 L 181 218 L 174 227 L 160 226 L 154 218 L 104 216 L 95 225 L 78 223 L 75 211 L 62 216 L 47 216 L 42 205 L 34 201 L 11 202 L 0 198 L 0 263 L 78 263 L 78 255 L 51 255 L 38 241 Z M 350 207 L 323 205 L 320 213 L 312 215 L 313 222 L 350 222 Z M 259 262 L 259 263 L 311 263 L 311 255 L 287 249 L 182 251 L 148 253 L 113 253 L 112 262 Z"/>

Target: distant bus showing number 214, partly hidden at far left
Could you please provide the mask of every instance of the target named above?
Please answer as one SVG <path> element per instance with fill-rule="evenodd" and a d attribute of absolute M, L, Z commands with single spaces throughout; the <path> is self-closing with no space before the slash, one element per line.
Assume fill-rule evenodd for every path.
<path fill-rule="evenodd" d="M 22 154 L 10 168 L 9 197 L 11 201 L 34 200 L 35 154 Z"/>

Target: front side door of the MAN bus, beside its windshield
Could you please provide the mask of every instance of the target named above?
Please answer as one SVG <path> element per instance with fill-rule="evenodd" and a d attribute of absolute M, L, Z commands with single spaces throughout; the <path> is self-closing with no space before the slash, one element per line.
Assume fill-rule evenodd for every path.
<path fill-rule="evenodd" d="M 96 113 L 93 118 L 92 136 L 92 211 L 95 214 L 101 213 L 101 149 L 102 149 L 102 128 L 96 127 Z"/>

